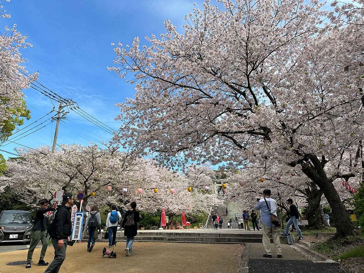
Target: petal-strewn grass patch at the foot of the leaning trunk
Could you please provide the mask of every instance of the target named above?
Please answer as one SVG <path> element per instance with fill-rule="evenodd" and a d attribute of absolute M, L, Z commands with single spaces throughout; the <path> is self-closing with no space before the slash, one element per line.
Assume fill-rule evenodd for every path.
<path fill-rule="evenodd" d="M 313 249 L 318 253 L 336 258 L 357 247 L 364 247 L 364 238 L 361 236 L 349 236 L 335 240 L 329 239 L 327 241 L 314 244 Z"/>

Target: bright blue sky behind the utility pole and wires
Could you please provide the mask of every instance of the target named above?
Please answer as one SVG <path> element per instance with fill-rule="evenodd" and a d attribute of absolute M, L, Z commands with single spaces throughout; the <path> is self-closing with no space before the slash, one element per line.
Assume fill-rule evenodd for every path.
<path fill-rule="evenodd" d="M 16 23 L 18 31 L 27 34 L 27 41 L 33 44 L 32 48 L 22 50 L 23 57 L 28 59 L 28 71 L 38 71 L 41 84 L 64 98 L 72 98 L 83 110 L 115 130 L 120 124 L 114 120 L 119 113 L 114 104 L 133 96 L 134 87 L 107 70 L 115 58 L 110 44 L 119 41 L 131 44 L 135 36 L 141 41 L 146 35 L 159 36 L 165 33 L 166 19 L 179 27 L 185 22 L 183 16 L 193 8 L 193 0 L 11 0 L 4 3 L 11 18 L 1 18 L 0 26 Z M 53 107 L 50 99 L 32 88 L 24 90 L 24 94 L 32 118 L 22 127 Z M 74 112 L 67 117 L 70 121 L 65 120 L 59 127 L 58 144 L 88 145 L 90 141 L 111 137 Z M 55 123 L 52 123 L 13 141 L 30 147 L 52 145 L 54 130 Z M 17 146 L 9 143 L 0 149 L 13 152 Z"/>

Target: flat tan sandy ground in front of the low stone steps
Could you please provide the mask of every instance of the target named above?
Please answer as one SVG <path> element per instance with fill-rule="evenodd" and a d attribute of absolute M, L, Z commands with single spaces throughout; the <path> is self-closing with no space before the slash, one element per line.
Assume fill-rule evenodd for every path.
<path fill-rule="evenodd" d="M 124 256 L 124 244 L 118 244 L 115 252 L 116 259 L 102 258 L 102 248 L 105 245 L 96 243 L 91 253 L 86 251 L 86 244 L 68 246 L 66 260 L 60 273 L 66 272 L 128 272 L 128 273 L 235 273 L 242 245 L 225 244 L 177 244 L 177 243 L 144 243 L 135 242 L 133 254 Z M 44 260 L 51 262 L 53 248 L 48 247 Z M 33 254 L 31 269 L 25 269 L 25 265 L 6 265 L 9 262 L 24 261 L 27 250 L 0 253 L 0 273 L 43 273 L 46 267 L 36 266 L 40 249 Z"/>

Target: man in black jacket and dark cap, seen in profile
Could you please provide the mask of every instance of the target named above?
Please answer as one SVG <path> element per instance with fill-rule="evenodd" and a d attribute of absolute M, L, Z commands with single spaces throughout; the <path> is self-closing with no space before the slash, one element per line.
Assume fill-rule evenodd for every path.
<path fill-rule="evenodd" d="M 72 193 L 63 195 L 62 205 L 57 207 L 55 218 L 50 226 L 49 234 L 54 248 L 54 260 L 44 273 L 58 273 L 66 258 L 67 242 L 72 233 L 71 206 L 73 204 Z"/>

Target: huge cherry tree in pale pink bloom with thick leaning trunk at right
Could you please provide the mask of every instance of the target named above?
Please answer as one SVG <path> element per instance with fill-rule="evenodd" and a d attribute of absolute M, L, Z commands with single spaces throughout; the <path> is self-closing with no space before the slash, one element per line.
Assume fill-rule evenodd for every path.
<path fill-rule="evenodd" d="M 333 209 L 337 236 L 353 234 L 333 182 L 363 174 L 363 1 L 333 12 L 317 0 L 217 3 L 193 8 L 183 34 L 167 20 L 150 46 L 136 37 L 114 48 L 109 70 L 136 91 L 117 104 L 114 140 L 172 166 L 300 169 Z"/>

